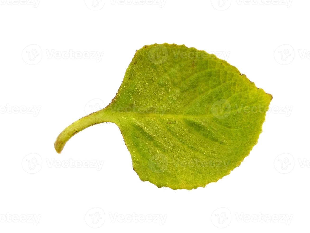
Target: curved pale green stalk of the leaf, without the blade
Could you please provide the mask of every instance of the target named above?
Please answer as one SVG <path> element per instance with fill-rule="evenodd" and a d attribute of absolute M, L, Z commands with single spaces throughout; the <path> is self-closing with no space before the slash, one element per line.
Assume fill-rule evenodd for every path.
<path fill-rule="evenodd" d="M 114 122 L 113 117 L 111 116 L 109 111 L 105 111 L 106 109 L 101 109 L 97 112 L 91 113 L 81 119 L 73 122 L 67 128 L 65 128 L 60 135 L 58 135 L 54 147 L 57 153 L 60 153 L 64 148 L 66 142 L 78 132 L 86 129 L 89 126 L 93 126 L 103 122 Z"/>

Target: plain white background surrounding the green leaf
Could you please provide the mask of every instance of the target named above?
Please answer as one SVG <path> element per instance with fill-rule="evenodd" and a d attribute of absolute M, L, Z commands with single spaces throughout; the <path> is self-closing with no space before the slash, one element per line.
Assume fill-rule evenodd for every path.
<path fill-rule="evenodd" d="M 309 1 L 0 2 L 1 232 L 308 229 Z M 61 130 L 115 96 L 135 50 L 164 42 L 215 53 L 273 95 L 241 166 L 205 188 L 159 189 L 112 123 L 57 154 Z"/>

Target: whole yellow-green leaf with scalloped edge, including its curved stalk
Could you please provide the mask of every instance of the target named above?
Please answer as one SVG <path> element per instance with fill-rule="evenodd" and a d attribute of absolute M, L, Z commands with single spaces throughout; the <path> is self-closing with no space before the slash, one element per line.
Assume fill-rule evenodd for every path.
<path fill-rule="evenodd" d="M 205 187 L 238 167 L 257 143 L 272 99 L 215 55 L 185 45 L 137 50 L 115 98 L 68 126 L 58 153 L 77 132 L 114 122 L 143 181 Z"/>

